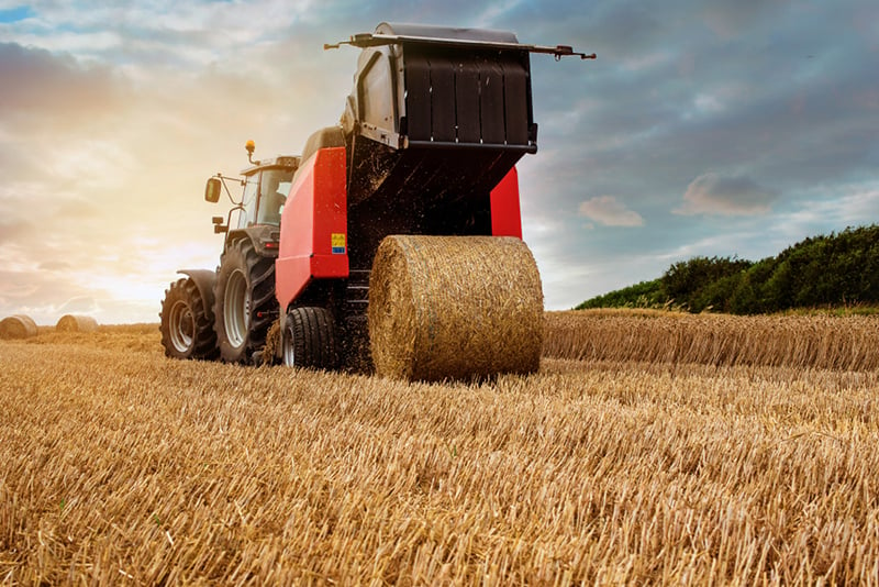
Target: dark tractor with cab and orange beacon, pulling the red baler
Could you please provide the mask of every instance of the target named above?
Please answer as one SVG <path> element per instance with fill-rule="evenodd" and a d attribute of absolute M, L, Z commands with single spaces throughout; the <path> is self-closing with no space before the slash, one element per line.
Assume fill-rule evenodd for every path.
<path fill-rule="evenodd" d="M 242 170 L 243 180 L 218 174 L 205 186 L 205 200 L 215 203 L 225 191 L 234 207 L 225 224 L 223 217 L 212 219 L 214 232 L 226 234 L 218 270 L 182 269 L 186 277 L 166 292 L 160 331 L 167 356 L 252 363 L 278 317 L 280 212 L 300 158 L 254 162 L 254 143 L 248 141 L 246 147 L 251 166 Z M 241 184 L 240 199 L 232 196 L 229 182 Z"/>

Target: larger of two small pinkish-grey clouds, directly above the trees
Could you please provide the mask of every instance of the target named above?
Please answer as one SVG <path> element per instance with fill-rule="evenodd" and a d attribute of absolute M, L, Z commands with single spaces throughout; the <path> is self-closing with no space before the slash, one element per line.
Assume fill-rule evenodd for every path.
<path fill-rule="evenodd" d="M 746 176 L 714 173 L 693 179 L 683 193 L 683 206 L 676 214 L 757 215 L 769 212 L 778 193 L 757 185 Z"/>

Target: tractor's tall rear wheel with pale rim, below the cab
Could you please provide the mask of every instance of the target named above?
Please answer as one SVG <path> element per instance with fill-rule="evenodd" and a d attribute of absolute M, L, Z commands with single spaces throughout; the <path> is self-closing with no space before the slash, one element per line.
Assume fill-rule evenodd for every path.
<path fill-rule="evenodd" d="M 277 315 L 275 259 L 259 255 L 249 239 L 231 244 L 220 258 L 214 285 L 214 332 L 224 363 L 253 362 L 266 346 Z"/>

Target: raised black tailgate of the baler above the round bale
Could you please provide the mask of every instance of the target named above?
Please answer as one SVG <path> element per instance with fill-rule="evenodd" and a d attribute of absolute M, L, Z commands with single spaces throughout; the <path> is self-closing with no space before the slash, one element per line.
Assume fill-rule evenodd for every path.
<path fill-rule="evenodd" d="M 342 118 L 348 200 L 483 198 L 537 149 L 530 54 L 513 33 L 382 23 Z"/>

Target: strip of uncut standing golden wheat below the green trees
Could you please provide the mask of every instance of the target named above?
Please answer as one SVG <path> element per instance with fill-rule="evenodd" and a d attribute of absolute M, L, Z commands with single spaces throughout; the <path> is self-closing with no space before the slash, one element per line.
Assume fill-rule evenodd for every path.
<path fill-rule="evenodd" d="M 543 354 L 828 369 L 879 368 L 875 315 L 721 315 L 656 310 L 547 312 Z"/>

